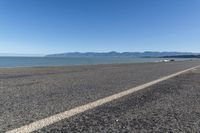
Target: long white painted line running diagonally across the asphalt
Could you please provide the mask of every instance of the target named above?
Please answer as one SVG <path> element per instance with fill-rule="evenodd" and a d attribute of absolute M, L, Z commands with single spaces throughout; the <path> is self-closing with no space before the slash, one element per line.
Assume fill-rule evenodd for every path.
<path fill-rule="evenodd" d="M 114 94 L 114 95 L 99 99 L 97 101 L 90 102 L 90 103 L 87 103 L 85 105 L 81 105 L 79 107 L 75 107 L 75 108 L 70 109 L 68 111 L 61 112 L 61 113 L 55 114 L 53 116 L 50 116 L 50 117 L 35 121 L 35 122 L 30 123 L 28 125 L 22 126 L 20 128 L 16 128 L 16 129 L 7 131 L 6 133 L 30 133 L 30 132 L 42 129 L 42 128 L 46 127 L 46 126 L 49 126 L 49 125 L 54 124 L 56 122 L 59 122 L 61 120 L 64 120 L 64 119 L 67 119 L 67 118 L 72 117 L 74 115 L 83 113 L 83 112 L 85 112 L 87 110 L 94 109 L 94 108 L 96 108 L 98 106 L 101 106 L 101 105 L 106 104 L 108 102 L 111 102 L 113 100 L 122 98 L 122 97 L 127 96 L 127 95 L 129 95 L 131 93 L 134 93 L 134 92 L 136 92 L 138 90 L 142 90 L 144 88 L 150 87 L 150 86 L 155 85 L 155 84 L 157 84 L 159 82 L 162 82 L 164 80 L 167 80 L 167 79 L 170 79 L 172 77 L 178 76 L 178 75 L 183 74 L 183 73 L 185 73 L 187 71 L 194 70 L 194 69 L 196 69 L 198 67 L 200 67 L 200 66 L 196 66 L 196 67 L 193 67 L 193 68 L 190 68 L 190 69 L 186 69 L 184 71 L 180 71 L 180 72 L 177 72 L 177 73 L 162 77 L 160 79 L 157 79 L 157 80 L 151 81 L 149 83 L 146 83 L 146 84 L 131 88 L 129 90 L 125 90 L 123 92 L 120 92 L 120 93 L 117 93 L 117 94 Z"/>

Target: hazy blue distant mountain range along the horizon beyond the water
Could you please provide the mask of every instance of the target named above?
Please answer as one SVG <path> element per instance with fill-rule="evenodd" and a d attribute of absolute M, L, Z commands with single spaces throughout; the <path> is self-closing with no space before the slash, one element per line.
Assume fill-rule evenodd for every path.
<path fill-rule="evenodd" d="M 171 57 L 171 56 L 191 56 L 198 55 L 192 52 L 71 52 L 71 53 L 60 53 L 50 54 L 45 57 Z"/>

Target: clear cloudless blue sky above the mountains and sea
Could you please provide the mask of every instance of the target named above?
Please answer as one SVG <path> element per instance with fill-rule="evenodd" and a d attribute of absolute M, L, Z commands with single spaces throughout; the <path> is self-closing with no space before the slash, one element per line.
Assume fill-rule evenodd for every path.
<path fill-rule="evenodd" d="M 0 0 L 0 53 L 200 52 L 200 0 Z"/>

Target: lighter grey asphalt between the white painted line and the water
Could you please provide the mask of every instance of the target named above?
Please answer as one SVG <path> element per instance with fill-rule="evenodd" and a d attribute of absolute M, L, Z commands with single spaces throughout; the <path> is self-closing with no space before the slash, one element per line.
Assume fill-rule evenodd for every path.
<path fill-rule="evenodd" d="M 0 132 L 199 64 L 200 61 L 185 61 L 0 69 Z M 74 124 L 78 128 L 79 123 Z M 67 131 L 65 128 L 58 131 L 64 130 Z M 75 128 L 74 130 L 76 131 Z"/>

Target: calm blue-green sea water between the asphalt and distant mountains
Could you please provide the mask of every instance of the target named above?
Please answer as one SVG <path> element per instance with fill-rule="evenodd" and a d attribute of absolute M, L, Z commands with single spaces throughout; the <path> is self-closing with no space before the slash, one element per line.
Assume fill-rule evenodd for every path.
<path fill-rule="evenodd" d="M 0 57 L 0 67 L 71 66 L 86 64 L 118 64 L 156 62 L 161 58 L 131 57 Z M 177 59 L 176 59 L 177 60 Z M 179 59 L 183 60 L 183 59 Z"/>

